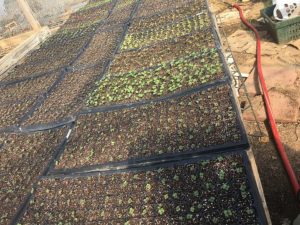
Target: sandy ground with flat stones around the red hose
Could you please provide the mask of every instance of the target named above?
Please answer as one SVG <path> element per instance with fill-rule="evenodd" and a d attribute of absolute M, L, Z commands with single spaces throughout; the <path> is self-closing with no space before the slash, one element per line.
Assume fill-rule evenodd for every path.
<path fill-rule="evenodd" d="M 234 3 L 228 0 L 229 3 Z M 222 19 L 221 28 L 225 31 L 234 58 L 241 72 L 250 74 L 246 85 L 251 96 L 255 114 L 259 124 L 253 121 L 251 110 L 243 113 L 246 130 L 254 152 L 267 205 L 274 225 L 292 224 L 300 209 L 295 200 L 290 182 L 274 146 L 262 96 L 259 91 L 257 74 L 255 73 L 255 39 L 253 34 L 241 24 L 237 11 L 228 9 L 221 1 L 210 1 L 212 10 Z M 265 31 L 258 20 L 260 10 L 266 7 L 263 2 L 241 3 L 245 17 L 256 26 L 262 37 L 262 62 L 271 102 L 277 121 L 280 136 L 286 148 L 288 157 L 300 176 L 300 49 L 293 43 L 278 45 Z M 220 26 L 220 25 L 219 25 Z M 244 101 L 244 98 L 240 98 Z M 299 177 L 300 179 L 300 177 Z"/>

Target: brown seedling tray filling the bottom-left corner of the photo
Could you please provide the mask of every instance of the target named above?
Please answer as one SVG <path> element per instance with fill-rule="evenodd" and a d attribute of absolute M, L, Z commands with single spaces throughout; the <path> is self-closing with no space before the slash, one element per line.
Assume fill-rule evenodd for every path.
<path fill-rule="evenodd" d="M 0 137 L 4 144 L 0 157 L 0 224 L 10 224 L 63 140 L 64 132 L 59 129 Z"/>

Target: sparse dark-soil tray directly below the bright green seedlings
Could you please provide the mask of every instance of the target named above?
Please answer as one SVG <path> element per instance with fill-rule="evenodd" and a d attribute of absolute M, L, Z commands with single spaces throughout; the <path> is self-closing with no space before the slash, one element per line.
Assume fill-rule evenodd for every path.
<path fill-rule="evenodd" d="M 56 168 L 202 152 L 243 139 L 229 86 L 218 86 L 136 108 L 79 116 Z"/>

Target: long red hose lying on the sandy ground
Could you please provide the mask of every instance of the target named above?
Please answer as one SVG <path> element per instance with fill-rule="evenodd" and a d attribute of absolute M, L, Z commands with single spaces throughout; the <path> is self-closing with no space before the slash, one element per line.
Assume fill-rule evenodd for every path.
<path fill-rule="evenodd" d="M 291 166 L 291 163 L 290 163 L 290 161 L 287 157 L 284 146 L 281 142 L 279 132 L 278 132 L 278 129 L 277 129 L 277 126 L 276 126 L 276 123 L 275 123 L 275 119 L 273 117 L 272 109 L 271 109 L 268 89 L 267 89 L 267 85 L 266 85 L 264 75 L 263 75 L 263 72 L 262 72 L 261 45 L 260 45 L 260 37 L 259 37 L 258 31 L 245 19 L 244 15 L 243 15 L 243 10 L 240 8 L 239 5 L 234 4 L 233 7 L 236 8 L 239 11 L 240 18 L 241 18 L 242 22 L 255 33 L 256 44 L 257 44 L 257 46 L 256 46 L 257 71 L 258 71 L 258 76 L 259 76 L 259 80 L 260 80 L 260 85 L 261 85 L 261 88 L 262 88 L 262 91 L 263 91 L 263 97 L 264 97 L 264 101 L 265 101 L 265 105 L 266 105 L 266 109 L 267 109 L 267 115 L 268 115 L 269 123 L 270 123 L 270 126 L 271 126 L 273 138 L 274 138 L 277 150 L 278 150 L 278 152 L 280 154 L 280 157 L 282 159 L 285 170 L 288 173 L 288 176 L 289 176 L 290 182 L 293 186 L 293 190 L 294 190 L 294 193 L 297 197 L 297 200 L 300 201 L 300 185 L 299 185 L 299 182 L 296 178 L 295 172 L 294 172 L 294 170 Z"/>

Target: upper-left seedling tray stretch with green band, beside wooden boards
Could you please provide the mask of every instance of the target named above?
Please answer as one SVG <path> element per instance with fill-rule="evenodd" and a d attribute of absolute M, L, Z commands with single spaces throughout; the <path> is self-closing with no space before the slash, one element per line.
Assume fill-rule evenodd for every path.
<path fill-rule="evenodd" d="M 71 18 L 23 62 L 8 72 L 3 82 L 22 80 L 48 71 L 68 67 L 90 42 L 95 30 L 109 15 L 114 1 L 88 4 Z M 74 26 L 70 26 L 74 25 Z"/>

